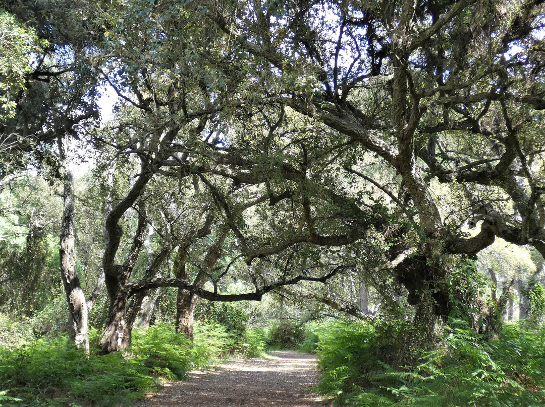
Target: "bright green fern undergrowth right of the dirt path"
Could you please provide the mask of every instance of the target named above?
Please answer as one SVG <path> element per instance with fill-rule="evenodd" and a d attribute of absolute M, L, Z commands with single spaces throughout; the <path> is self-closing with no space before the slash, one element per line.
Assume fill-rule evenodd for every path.
<path fill-rule="evenodd" d="M 451 320 L 440 346 L 416 350 L 411 366 L 385 363 L 380 356 L 392 345 L 369 324 L 335 322 L 313 335 L 323 371 L 318 390 L 337 405 L 545 405 L 543 329 L 507 324 L 500 338 L 486 341 Z"/>

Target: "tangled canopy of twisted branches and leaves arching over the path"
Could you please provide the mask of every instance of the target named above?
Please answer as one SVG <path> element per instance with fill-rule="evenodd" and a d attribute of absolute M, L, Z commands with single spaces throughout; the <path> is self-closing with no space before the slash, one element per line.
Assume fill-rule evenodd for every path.
<path fill-rule="evenodd" d="M 472 258 L 496 237 L 545 255 L 542 3 L 6 0 L 3 164 L 63 182 L 71 242 L 74 143 L 96 153 L 104 353 L 165 286 L 181 319 L 301 282 L 355 315 L 328 291 L 356 275 L 429 325 L 479 297 Z"/>

